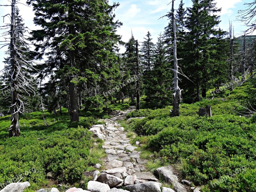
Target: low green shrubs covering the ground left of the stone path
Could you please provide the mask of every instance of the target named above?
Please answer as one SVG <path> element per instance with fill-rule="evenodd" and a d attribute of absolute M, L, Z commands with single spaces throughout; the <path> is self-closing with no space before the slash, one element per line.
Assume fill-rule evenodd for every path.
<path fill-rule="evenodd" d="M 95 122 L 92 117 L 80 117 L 81 124 L 88 125 L 82 127 L 68 123 L 67 109 L 61 117 L 48 112 L 25 114 L 20 119 L 21 136 L 13 138 L 8 138 L 9 118 L 0 117 L 0 183 L 22 174 L 26 175 L 22 181 L 31 185 L 27 191 L 35 191 L 49 185 L 46 173 L 50 171 L 59 183 L 80 182 L 87 167 L 99 162 L 90 156 L 94 140 L 87 127 Z M 36 171 L 27 175 L 32 168 Z"/>

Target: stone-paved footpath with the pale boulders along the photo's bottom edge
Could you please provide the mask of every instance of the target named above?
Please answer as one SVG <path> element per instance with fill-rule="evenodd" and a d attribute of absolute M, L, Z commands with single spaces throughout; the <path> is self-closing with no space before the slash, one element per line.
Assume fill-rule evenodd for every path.
<path fill-rule="evenodd" d="M 118 120 L 124 119 L 132 110 L 135 110 L 135 107 L 132 106 L 127 111 L 116 111 L 111 119 L 100 120 L 105 121 L 105 125 L 92 126 L 90 131 L 104 140 L 103 148 L 107 154 L 107 158 L 104 159 L 105 170 L 92 172 L 93 180 L 89 181 L 87 190 L 70 188 L 66 192 L 200 192 L 200 188 L 189 187 L 191 182 L 187 180 L 182 180 L 181 184 L 171 166 L 158 168 L 155 172 L 156 176 L 147 172 L 145 167 L 147 160 L 140 159 L 140 152 L 136 151 L 137 147 L 130 144 L 124 128 L 118 124 Z M 140 143 L 136 142 L 136 145 L 139 146 Z M 100 164 L 95 165 L 97 169 L 101 167 Z M 173 188 L 162 187 L 159 178 L 166 183 L 172 183 Z M 29 183 L 26 184 L 29 186 Z M 21 190 L 16 188 L 15 192 L 22 192 L 26 187 L 25 184 L 19 186 Z M 5 192 L 4 189 L 2 191 Z M 9 188 L 7 191 L 12 192 Z M 37 192 L 59 191 L 57 188 L 52 188 L 40 189 Z"/>

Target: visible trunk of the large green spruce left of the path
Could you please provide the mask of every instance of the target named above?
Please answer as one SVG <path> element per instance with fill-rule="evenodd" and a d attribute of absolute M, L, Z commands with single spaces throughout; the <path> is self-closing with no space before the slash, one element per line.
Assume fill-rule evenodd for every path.
<path fill-rule="evenodd" d="M 70 15 L 72 13 L 72 7 L 70 7 L 70 10 L 68 14 Z M 74 35 L 74 25 L 73 21 L 70 19 L 70 26 L 69 26 L 69 34 Z M 76 66 L 76 53 L 73 50 L 69 51 L 69 67 L 75 67 Z M 70 114 L 70 122 L 79 121 L 79 113 L 77 108 L 77 86 L 72 83 L 72 80 L 74 79 L 74 74 L 69 75 L 69 108 L 68 112 Z"/>

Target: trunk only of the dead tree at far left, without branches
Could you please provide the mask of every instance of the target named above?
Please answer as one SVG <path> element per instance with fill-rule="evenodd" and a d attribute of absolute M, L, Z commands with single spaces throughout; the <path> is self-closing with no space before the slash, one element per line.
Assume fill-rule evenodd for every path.
<path fill-rule="evenodd" d="M 16 0 L 12 0 L 12 18 L 11 18 L 11 59 L 10 64 L 12 68 L 11 76 L 11 91 L 12 91 L 12 105 L 11 105 L 11 126 L 9 129 L 9 137 L 20 136 L 19 128 L 19 98 L 17 92 L 17 60 L 16 60 Z"/>

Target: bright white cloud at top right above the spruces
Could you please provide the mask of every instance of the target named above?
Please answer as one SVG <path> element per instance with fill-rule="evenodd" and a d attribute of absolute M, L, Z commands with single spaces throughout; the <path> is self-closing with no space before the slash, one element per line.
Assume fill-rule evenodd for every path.
<path fill-rule="evenodd" d="M 231 15 L 233 14 L 233 10 L 235 7 L 235 4 L 242 2 L 242 0 L 216 0 L 218 8 L 222 8 L 220 15 Z"/>

